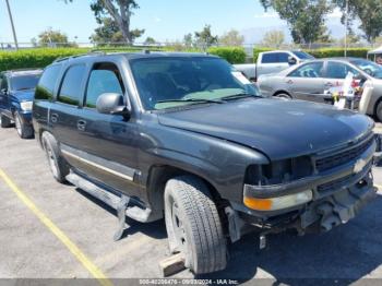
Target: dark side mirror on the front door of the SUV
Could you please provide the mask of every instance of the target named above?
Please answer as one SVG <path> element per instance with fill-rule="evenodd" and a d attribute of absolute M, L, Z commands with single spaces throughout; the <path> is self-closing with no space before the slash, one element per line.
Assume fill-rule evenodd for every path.
<path fill-rule="evenodd" d="M 117 93 L 102 94 L 96 103 L 96 108 L 103 115 L 120 115 L 130 117 L 130 108 L 124 105 L 123 96 Z"/>

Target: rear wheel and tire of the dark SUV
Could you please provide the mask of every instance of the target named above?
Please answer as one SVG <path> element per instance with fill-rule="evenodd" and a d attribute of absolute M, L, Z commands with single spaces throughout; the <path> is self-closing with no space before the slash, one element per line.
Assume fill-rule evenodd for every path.
<path fill-rule="evenodd" d="M 70 172 L 70 168 L 64 158 L 60 156 L 60 151 L 55 136 L 49 132 L 44 132 L 41 135 L 41 142 L 51 174 L 58 182 L 64 183 L 67 181 L 65 177 Z"/>

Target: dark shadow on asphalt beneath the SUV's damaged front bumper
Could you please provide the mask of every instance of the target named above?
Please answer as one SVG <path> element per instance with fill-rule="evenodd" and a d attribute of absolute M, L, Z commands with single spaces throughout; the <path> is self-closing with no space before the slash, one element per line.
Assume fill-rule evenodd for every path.
<path fill-rule="evenodd" d="M 258 236 L 246 236 L 230 248 L 225 271 L 199 278 L 246 283 L 254 276 L 273 285 L 349 285 L 382 264 L 382 195 L 358 217 L 327 234 L 268 237 L 268 249 L 256 250 Z M 271 281 L 268 281 L 271 282 Z"/>

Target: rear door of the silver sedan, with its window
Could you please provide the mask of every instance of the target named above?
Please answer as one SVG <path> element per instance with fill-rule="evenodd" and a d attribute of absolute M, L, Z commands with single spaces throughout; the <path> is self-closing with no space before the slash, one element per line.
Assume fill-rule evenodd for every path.
<path fill-rule="evenodd" d="M 323 61 L 309 62 L 297 68 L 286 78 L 288 91 L 294 98 L 324 103 Z"/>

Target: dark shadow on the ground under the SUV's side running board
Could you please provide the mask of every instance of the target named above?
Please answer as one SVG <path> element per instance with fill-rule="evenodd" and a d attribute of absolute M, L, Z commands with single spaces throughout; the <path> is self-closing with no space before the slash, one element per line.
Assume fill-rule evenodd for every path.
<path fill-rule="evenodd" d="M 109 214 L 114 215 L 116 217 L 116 221 L 117 221 L 117 211 L 116 210 L 114 210 L 112 207 L 110 207 L 109 205 L 104 203 L 103 201 L 99 201 L 98 199 L 92 196 L 91 194 L 88 194 L 87 192 L 85 192 L 79 188 L 76 188 L 75 191 L 77 193 L 82 194 L 83 196 L 85 196 L 87 200 L 97 204 L 99 207 L 104 208 Z M 142 234 L 145 234 L 146 236 L 150 236 L 150 237 L 156 238 L 156 239 L 167 238 L 166 226 L 165 226 L 164 219 L 160 219 L 160 221 L 157 221 L 154 223 L 143 224 L 143 223 L 139 223 L 136 221 L 133 221 L 133 219 L 127 217 L 126 223 L 127 223 L 127 229 L 124 230 L 121 239 L 123 239 L 128 236 L 132 236 L 136 233 L 142 233 Z"/>

